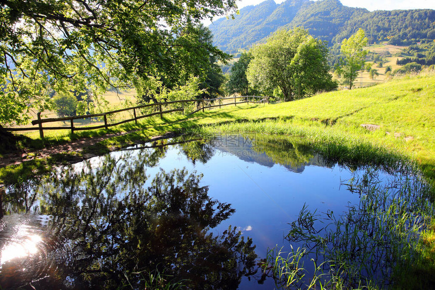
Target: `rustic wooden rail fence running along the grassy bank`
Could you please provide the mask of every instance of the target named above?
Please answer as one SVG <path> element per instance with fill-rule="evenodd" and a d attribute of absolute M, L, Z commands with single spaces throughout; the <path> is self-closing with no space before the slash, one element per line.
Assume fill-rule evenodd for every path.
<path fill-rule="evenodd" d="M 237 102 L 237 99 L 245 99 L 245 100 L 239 100 Z M 251 101 L 249 101 L 251 99 Z M 255 99 L 259 99 L 259 101 L 253 101 Z M 222 101 L 224 100 L 234 100 L 233 102 L 223 104 Z M 214 104 L 214 101 L 219 101 L 219 105 Z M 210 103 L 213 102 L 213 103 Z M 142 106 L 136 106 L 131 108 L 125 108 L 125 109 L 119 109 L 114 110 L 110 112 L 100 113 L 100 114 L 92 114 L 92 115 L 80 115 L 80 116 L 73 116 L 73 117 L 64 117 L 64 118 L 46 118 L 41 119 L 41 113 L 37 113 L 37 119 L 32 121 L 32 125 L 38 125 L 37 127 L 26 127 L 26 128 L 6 128 L 8 131 L 32 131 L 32 130 L 39 130 L 39 135 L 41 138 L 44 137 L 44 130 L 71 130 L 71 134 L 74 133 L 74 131 L 80 131 L 80 130 L 94 130 L 94 129 L 101 129 L 109 127 L 120 125 L 127 122 L 133 122 L 135 121 L 138 123 L 139 119 L 151 117 L 155 115 L 160 115 L 160 118 L 163 118 L 163 114 L 173 113 L 173 112 L 182 112 L 184 114 L 184 104 L 186 103 L 196 103 L 196 110 L 189 113 L 188 115 L 195 114 L 196 112 L 199 112 L 202 110 L 204 112 L 205 109 L 211 109 L 211 108 L 221 108 L 223 106 L 229 106 L 234 105 L 237 106 L 239 104 L 269 104 L 269 97 L 268 96 L 255 96 L 255 95 L 249 95 L 249 96 L 240 96 L 240 97 L 231 97 L 231 98 L 216 98 L 216 99 L 195 99 L 195 100 L 180 100 L 180 101 L 171 101 L 171 102 L 162 102 L 162 103 L 154 103 L 154 104 L 148 104 L 148 105 L 142 105 Z M 208 103 L 206 105 L 206 103 Z M 163 110 L 163 107 L 167 105 L 181 105 L 180 108 L 175 109 L 169 109 L 169 110 Z M 201 106 L 199 106 L 201 104 Z M 149 107 L 157 107 L 157 112 L 145 114 L 145 115 L 138 115 L 140 113 L 140 109 L 143 108 L 149 108 Z M 116 123 L 108 123 L 107 116 L 115 113 L 120 112 L 126 112 L 126 111 L 133 111 L 133 118 L 122 120 Z M 85 119 L 85 118 L 96 118 L 96 117 L 103 117 L 104 125 L 98 125 L 98 126 L 81 126 L 76 127 L 74 126 L 74 120 L 77 119 Z M 50 123 L 50 122 L 59 122 L 59 121 L 70 121 L 70 126 L 58 126 L 58 127 L 42 127 L 43 123 Z"/>

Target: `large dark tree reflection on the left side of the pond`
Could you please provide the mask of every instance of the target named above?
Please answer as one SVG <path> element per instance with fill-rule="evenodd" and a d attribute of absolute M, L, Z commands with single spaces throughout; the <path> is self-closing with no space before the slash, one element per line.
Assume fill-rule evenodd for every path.
<path fill-rule="evenodd" d="M 255 271 L 255 246 L 235 228 L 221 236 L 208 232 L 234 209 L 210 199 L 201 175 L 185 169 L 160 171 L 147 187 L 150 156 L 69 167 L 39 187 L 41 214 L 54 216 L 48 230 L 69 249 L 57 261 L 65 265 L 60 279 L 113 288 L 127 276 L 136 288 L 143 282 L 137 272 L 159 271 L 185 279 L 189 288 L 236 288 Z"/>

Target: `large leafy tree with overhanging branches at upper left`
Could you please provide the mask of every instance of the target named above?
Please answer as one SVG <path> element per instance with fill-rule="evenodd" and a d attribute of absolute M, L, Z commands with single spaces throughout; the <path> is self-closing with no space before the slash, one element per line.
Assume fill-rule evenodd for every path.
<path fill-rule="evenodd" d="M 1 0 L 0 126 L 51 106 L 48 89 L 101 93 L 150 75 L 182 83 L 202 56 L 224 56 L 195 25 L 234 9 L 234 0 Z"/>

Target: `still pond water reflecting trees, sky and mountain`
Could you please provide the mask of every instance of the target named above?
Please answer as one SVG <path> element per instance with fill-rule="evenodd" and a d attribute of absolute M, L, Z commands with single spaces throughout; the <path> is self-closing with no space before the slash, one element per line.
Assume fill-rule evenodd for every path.
<path fill-rule="evenodd" d="M 336 165 L 301 140 L 267 135 L 113 152 L 7 189 L 0 283 L 144 288 L 159 272 L 194 289 L 278 288 L 258 262 L 276 246 L 306 245 L 286 238 L 301 209 L 340 217 L 361 204 L 367 184 L 420 186 L 409 171 L 387 171 Z"/>

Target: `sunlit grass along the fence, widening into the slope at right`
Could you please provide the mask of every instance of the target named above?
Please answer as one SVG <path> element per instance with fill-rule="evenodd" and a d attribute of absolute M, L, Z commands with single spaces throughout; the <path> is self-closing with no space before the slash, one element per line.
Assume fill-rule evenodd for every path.
<path fill-rule="evenodd" d="M 287 128 L 288 133 L 296 133 L 295 130 L 301 128 L 300 134 L 304 134 L 303 131 L 318 132 L 320 135 L 338 134 L 343 138 L 370 142 L 399 152 L 422 165 L 435 166 L 434 95 L 435 76 L 418 76 L 368 88 L 322 93 L 288 103 L 227 106 L 220 110 L 199 112 L 190 118 L 183 115 L 166 115 L 163 120 L 147 118 L 139 125 L 120 125 L 110 129 L 110 132 L 141 129 L 140 134 L 145 136 L 149 135 L 146 134 L 148 130 L 161 133 L 226 122 L 236 127 L 244 124 L 235 122 L 237 120 L 262 121 L 263 126 Z M 370 131 L 362 124 L 378 125 L 379 129 Z M 71 136 L 68 131 L 58 131 L 48 135 L 45 141 L 57 143 L 105 132 L 86 131 Z M 37 133 L 32 137 L 37 139 L 36 136 Z"/>

